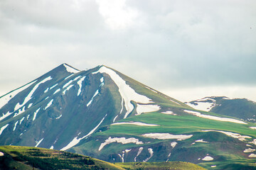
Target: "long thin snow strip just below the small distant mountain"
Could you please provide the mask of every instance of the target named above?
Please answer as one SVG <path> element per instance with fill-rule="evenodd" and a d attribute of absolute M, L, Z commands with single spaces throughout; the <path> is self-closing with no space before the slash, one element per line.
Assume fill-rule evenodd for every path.
<path fill-rule="evenodd" d="M 223 122 L 247 124 L 247 123 L 242 122 L 241 120 L 236 120 L 236 119 L 233 119 L 233 118 L 220 118 L 220 117 L 217 117 L 217 116 L 214 116 L 214 115 L 203 115 L 203 114 L 201 114 L 199 112 L 188 111 L 188 110 L 184 110 L 184 112 L 192 114 L 192 115 L 196 115 L 196 116 L 198 116 L 200 118 L 207 118 L 207 119 L 218 120 L 218 121 L 223 121 Z"/>

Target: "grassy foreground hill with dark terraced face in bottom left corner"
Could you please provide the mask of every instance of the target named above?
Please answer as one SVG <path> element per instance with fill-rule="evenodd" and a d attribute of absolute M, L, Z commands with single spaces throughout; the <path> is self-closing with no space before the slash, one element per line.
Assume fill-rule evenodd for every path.
<path fill-rule="evenodd" d="M 122 169 L 99 159 L 38 147 L 1 146 L 0 169 Z"/>

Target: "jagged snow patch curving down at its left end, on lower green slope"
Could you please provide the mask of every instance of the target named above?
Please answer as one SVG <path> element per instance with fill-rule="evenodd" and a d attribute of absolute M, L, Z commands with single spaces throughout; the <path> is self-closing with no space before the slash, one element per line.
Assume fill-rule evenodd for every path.
<path fill-rule="evenodd" d="M 113 142 L 117 142 L 117 143 L 122 143 L 122 144 L 127 144 L 127 143 L 135 143 L 136 145 L 142 145 L 143 142 L 140 142 L 138 139 L 131 137 L 128 139 L 125 139 L 125 137 L 109 137 L 107 140 L 105 140 L 105 142 L 103 142 L 100 147 L 99 147 L 99 151 L 105 147 L 106 145 L 113 143 Z"/>

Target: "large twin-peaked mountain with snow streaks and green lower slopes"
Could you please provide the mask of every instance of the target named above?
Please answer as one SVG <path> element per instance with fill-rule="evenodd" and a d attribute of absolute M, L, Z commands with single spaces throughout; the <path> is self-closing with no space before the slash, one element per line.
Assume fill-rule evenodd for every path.
<path fill-rule="evenodd" d="M 0 145 L 107 162 L 192 162 L 255 169 L 255 123 L 199 111 L 104 65 L 61 64 L 1 96 Z"/>

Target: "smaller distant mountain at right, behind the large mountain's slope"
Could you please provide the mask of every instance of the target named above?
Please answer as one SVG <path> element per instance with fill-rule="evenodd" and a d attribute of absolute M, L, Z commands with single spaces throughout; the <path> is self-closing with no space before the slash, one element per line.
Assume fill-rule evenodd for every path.
<path fill-rule="evenodd" d="M 188 106 L 201 111 L 233 116 L 256 123 L 256 103 L 247 98 L 206 97 L 186 102 Z"/>

